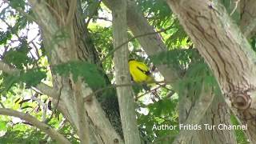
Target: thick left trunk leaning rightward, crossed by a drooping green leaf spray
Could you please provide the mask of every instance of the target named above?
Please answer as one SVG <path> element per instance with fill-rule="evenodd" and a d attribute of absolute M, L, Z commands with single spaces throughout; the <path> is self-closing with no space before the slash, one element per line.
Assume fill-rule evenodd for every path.
<path fill-rule="evenodd" d="M 30 0 L 29 2 L 42 30 L 50 66 L 70 61 L 98 62 L 94 46 L 90 42 L 90 35 L 84 27 L 80 1 L 78 5 L 69 0 Z M 62 34 L 67 34 L 68 37 L 63 37 Z M 57 40 L 57 38 L 62 39 Z M 86 98 L 93 93 L 93 90 L 85 82 L 74 82 L 71 75 L 62 77 L 54 72 L 53 78 L 54 88 L 62 104 L 58 108 L 78 130 L 83 143 L 123 143 L 95 96 Z M 82 102 L 84 98 L 87 99 L 86 102 Z M 117 104 L 113 103 L 113 105 Z M 117 115 L 113 117 L 118 118 Z M 84 139 L 87 135 L 89 140 Z"/>

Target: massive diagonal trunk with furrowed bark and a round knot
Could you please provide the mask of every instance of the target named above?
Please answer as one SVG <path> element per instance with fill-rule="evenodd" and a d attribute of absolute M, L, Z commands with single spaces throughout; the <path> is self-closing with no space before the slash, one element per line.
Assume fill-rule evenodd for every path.
<path fill-rule="evenodd" d="M 168 0 L 181 25 L 198 47 L 226 98 L 256 142 L 255 58 L 249 42 L 217 1 Z"/>

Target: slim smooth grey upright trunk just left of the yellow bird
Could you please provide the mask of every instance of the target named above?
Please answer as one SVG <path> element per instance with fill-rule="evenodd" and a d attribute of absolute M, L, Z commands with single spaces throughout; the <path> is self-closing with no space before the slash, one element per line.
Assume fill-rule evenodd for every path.
<path fill-rule="evenodd" d="M 114 48 L 121 46 L 128 39 L 126 6 L 126 0 L 120 0 L 115 3 L 112 10 Z M 115 81 L 117 85 L 130 83 L 128 55 L 128 44 L 114 51 Z M 117 92 L 125 143 L 139 144 L 140 138 L 131 86 L 118 86 Z"/>

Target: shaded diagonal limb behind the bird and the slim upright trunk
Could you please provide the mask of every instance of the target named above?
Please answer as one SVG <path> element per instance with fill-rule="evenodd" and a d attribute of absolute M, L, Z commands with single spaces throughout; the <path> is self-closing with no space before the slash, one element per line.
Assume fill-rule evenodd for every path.
<path fill-rule="evenodd" d="M 103 0 L 103 2 L 110 10 L 113 10 L 113 6 L 118 0 Z M 134 1 L 128 1 L 127 3 L 127 25 L 135 37 L 138 38 L 138 42 L 143 47 L 143 50 L 146 51 L 146 54 L 151 56 L 168 50 L 158 34 L 162 30 L 156 32 L 154 26 L 150 26 L 147 19 L 143 16 L 142 11 L 138 9 L 138 6 Z M 181 75 L 174 66 L 155 66 L 157 66 L 163 77 L 171 84 L 181 78 Z"/>

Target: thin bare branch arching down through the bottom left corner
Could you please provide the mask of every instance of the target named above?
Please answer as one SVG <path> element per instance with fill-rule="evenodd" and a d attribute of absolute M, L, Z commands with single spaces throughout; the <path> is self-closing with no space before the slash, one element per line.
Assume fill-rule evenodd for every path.
<path fill-rule="evenodd" d="M 30 122 L 32 125 L 36 126 L 38 129 L 42 130 L 46 134 L 49 134 L 50 137 L 55 139 L 58 143 L 63 143 L 63 144 L 70 143 L 62 134 L 59 134 L 56 130 L 46 125 L 45 123 L 38 121 L 37 118 L 34 118 L 30 114 L 24 114 L 16 110 L 4 109 L 4 108 L 0 108 L 0 114 L 21 118 L 26 122 Z"/>

